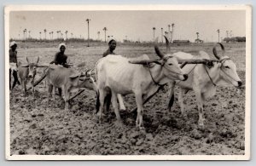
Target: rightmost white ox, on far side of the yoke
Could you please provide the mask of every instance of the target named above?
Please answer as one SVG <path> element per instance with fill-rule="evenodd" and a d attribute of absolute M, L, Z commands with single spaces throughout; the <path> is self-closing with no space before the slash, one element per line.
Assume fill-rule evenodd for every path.
<path fill-rule="evenodd" d="M 177 84 L 180 87 L 178 94 L 178 102 L 181 108 L 182 114 L 184 113 L 183 105 L 183 94 L 189 90 L 195 91 L 195 97 L 197 101 L 197 106 L 199 110 L 199 120 L 198 123 L 200 126 L 204 125 L 203 118 L 203 104 L 207 98 L 212 97 L 216 93 L 216 86 L 232 84 L 235 87 L 241 86 L 241 79 L 236 73 L 235 63 L 228 57 L 224 56 L 224 46 L 221 43 L 218 43 L 222 49 L 222 56 L 218 56 L 216 51 L 216 46 L 212 49 L 214 56 L 218 59 L 218 62 L 213 62 L 212 66 L 206 66 L 204 64 L 190 64 L 183 67 L 183 72 L 189 74 L 189 78 L 184 82 L 172 82 L 170 83 L 170 94 L 171 96 L 169 102 L 169 108 L 172 107 L 174 100 L 174 86 Z M 177 57 L 178 60 L 190 59 L 207 59 L 209 60 L 209 55 L 200 51 L 200 54 L 193 56 L 191 54 L 177 52 L 173 54 Z"/>

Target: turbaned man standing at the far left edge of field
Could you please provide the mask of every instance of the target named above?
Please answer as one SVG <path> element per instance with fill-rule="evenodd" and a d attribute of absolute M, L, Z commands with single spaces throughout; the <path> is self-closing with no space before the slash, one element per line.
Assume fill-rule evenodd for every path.
<path fill-rule="evenodd" d="M 19 79 L 18 79 L 18 69 L 17 69 L 17 43 L 15 43 L 15 41 L 11 42 L 9 44 L 9 89 L 14 89 L 16 83 L 18 83 L 20 85 Z M 13 76 L 15 78 L 13 86 L 11 88 L 11 75 L 13 72 Z"/>

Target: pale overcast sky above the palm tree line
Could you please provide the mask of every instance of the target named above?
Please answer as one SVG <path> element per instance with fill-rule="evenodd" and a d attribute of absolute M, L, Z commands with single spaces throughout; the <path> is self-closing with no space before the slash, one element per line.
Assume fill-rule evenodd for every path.
<path fill-rule="evenodd" d="M 232 11 L 12 11 L 9 15 L 9 35 L 12 38 L 23 37 L 23 30 L 31 31 L 32 37 L 39 37 L 39 31 L 44 29 L 68 31 L 67 37 L 87 38 L 87 22 L 90 19 L 90 38 L 97 39 L 97 31 L 104 40 L 104 27 L 107 27 L 107 36 L 113 36 L 121 41 L 125 36 L 133 41 L 153 40 L 153 27 L 155 37 L 160 37 L 161 27 L 168 31 L 168 25 L 174 23 L 173 39 L 189 39 L 195 41 L 196 32 L 199 38 L 208 42 L 218 41 L 217 30 L 220 37 L 226 37 L 226 31 L 232 31 L 233 37 L 245 37 L 246 13 L 243 10 Z M 172 26 L 171 26 L 172 31 Z M 20 34 L 20 36 L 19 36 Z M 27 32 L 28 36 L 28 32 Z M 160 38 L 161 39 L 161 38 Z"/>

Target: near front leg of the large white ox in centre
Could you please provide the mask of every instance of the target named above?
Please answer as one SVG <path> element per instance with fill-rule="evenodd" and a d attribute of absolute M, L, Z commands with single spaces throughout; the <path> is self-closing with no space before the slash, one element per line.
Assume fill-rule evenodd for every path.
<path fill-rule="evenodd" d="M 137 119 L 136 119 L 136 127 L 139 129 L 143 128 L 143 98 L 142 94 L 135 95 L 136 103 L 137 103 Z"/>

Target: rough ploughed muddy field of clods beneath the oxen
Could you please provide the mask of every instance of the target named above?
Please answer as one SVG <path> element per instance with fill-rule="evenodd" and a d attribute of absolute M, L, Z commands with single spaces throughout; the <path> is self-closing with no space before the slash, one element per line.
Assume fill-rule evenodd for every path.
<path fill-rule="evenodd" d="M 57 43 L 18 43 L 18 60 L 25 62 L 40 57 L 49 63 L 57 50 Z M 185 51 L 196 54 L 205 50 L 212 56 L 212 44 L 173 46 L 172 52 Z M 245 43 L 224 45 L 226 54 L 236 63 L 237 72 L 245 83 Z M 93 43 L 67 43 L 66 54 L 73 64 L 86 62 L 80 71 L 94 68 L 107 49 L 106 45 Z M 165 50 L 164 45 L 160 49 Z M 154 47 L 145 45 L 121 45 L 117 54 L 136 57 L 154 54 Z M 212 56 L 213 58 L 213 56 Z M 43 69 L 38 70 L 38 77 Z M 125 96 L 127 111 L 120 112 L 124 125 L 115 123 L 113 110 L 105 112 L 103 123 L 98 123 L 95 112 L 96 94 L 87 90 L 72 100 L 72 108 L 65 112 L 64 101 L 56 96 L 56 102 L 47 106 L 47 87 L 44 81 L 27 96 L 21 86 L 10 94 L 10 153 L 11 155 L 242 155 L 245 152 L 245 89 L 218 87 L 217 93 L 205 103 L 205 128 L 198 127 L 198 112 L 194 92 L 185 95 L 183 117 L 177 102 L 172 112 L 167 110 L 167 93 L 160 91 L 145 106 L 143 123 L 145 130 L 135 128 L 136 106 L 133 95 Z M 177 92 L 177 91 L 176 91 Z M 177 93 L 176 99 L 177 101 Z"/>

